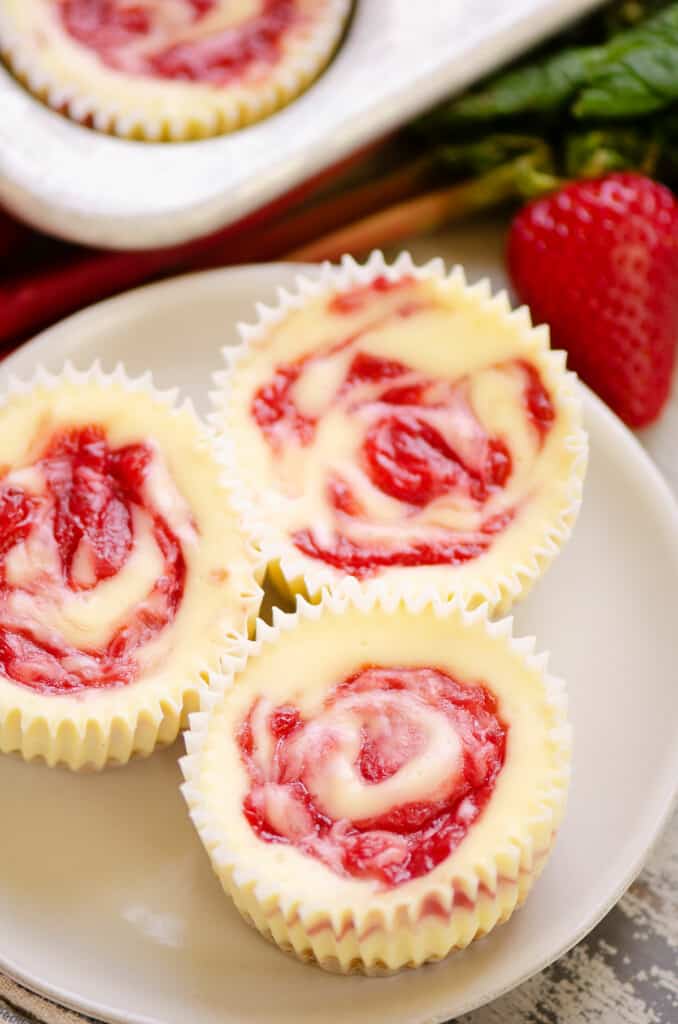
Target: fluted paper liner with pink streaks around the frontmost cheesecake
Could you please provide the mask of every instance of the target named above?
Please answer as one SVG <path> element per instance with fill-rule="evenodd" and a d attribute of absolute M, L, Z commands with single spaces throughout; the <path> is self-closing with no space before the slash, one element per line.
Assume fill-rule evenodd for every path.
<path fill-rule="evenodd" d="M 507 654 L 518 655 L 525 672 L 538 675 L 544 707 L 552 722 L 548 733 L 551 770 L 539 785 L 531 817 L 516 821 L 511 835 L 488 851 L 474 869 L 459 876 L 451 868 L 446 884 L 438 876 L 431 888 L 424 886 L 419 890 L 414 902 L 408 898 L 408 884 L 405 884 L 401 902 L 386 909 L 378 905 L 378 900 L 370 899 L 362 906 L 330 909 L 305 901 L 298 894 L 285 894 L 277 889 L 274 879 L 259 877 L 251 859 L 248 860 L 247 850 L 229 843 L 227 831 L 215 824 L 204 796 L 203 774 L 211 711 L 222 702 L 231 686 L 247 685 L 244 671 L 248 660 L 256 658 L 266 645 L 284 642 L 284 634 L 289 631 L 302 630 L 306 622 L 321 615 L 341 615 L 347 608 L 370 615 L 374 610 L 393 612 L 400 606 L 413 615 L 432 613 L 440 620 L 457 616 L 464 629 L 483 630 L 489 643 L 503 645 Z M 190 728 L 185 734 L 187 754 L 180 761 L 182 792 L 190 817 L 215 873 L 243 916 L 266 938 L 301 959 L 331 971 L 365 974 L 390 973 L 440 959 L 507 921 L 523 902 L 546 863 L 564 812 L 569 784 L 571 733 L 567 697 L 564 683 L 546 671 L 547 660 L 548 655 L 535 653 L 534 638 L 515 638 L 512 621 L 493 622 L 485 606 L 468 610 L 458 599 L 441 601 L 435 592 L 409 597 L 377 595 L 368 593 L 354 581 L 332 593 L 325 592 L 315 604 L 299 598 L 297 610 L 277 611 L 272 626 L 260 623 L 247 655 L 240 662 L 231 662 L 229 671 L 204 697 L 201 712 L 190 716 Z M 260 842 L 254 834 L 253 841 Z M 454 862 L 454 854 L 449 859 Z M 431 899 L 444 908 L 442 916 L 439 912 L 425 911 L 424 905 Z"/>

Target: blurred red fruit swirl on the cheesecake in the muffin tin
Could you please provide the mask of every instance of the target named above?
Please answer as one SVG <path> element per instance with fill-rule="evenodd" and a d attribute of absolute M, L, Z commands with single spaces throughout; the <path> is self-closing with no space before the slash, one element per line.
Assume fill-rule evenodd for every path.
<path fill-rule="evenodd" d="M 299 20 L 296 0 L 261 0 L 240 25 L 210 28 L 220 0 L 59 0 L 61 24 L 117 71 L 224 86 L 271 67 Z"/>

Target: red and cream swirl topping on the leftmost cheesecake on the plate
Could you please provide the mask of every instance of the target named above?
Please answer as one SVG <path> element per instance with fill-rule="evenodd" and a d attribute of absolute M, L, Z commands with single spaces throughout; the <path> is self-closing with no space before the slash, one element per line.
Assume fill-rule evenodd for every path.
<path fill-rule="evenodd" d="M 0 674 L 51 694 L 133 682 L 163 656 L 196 538 L 153 442 L 53 433 L 0 478 Z"/>

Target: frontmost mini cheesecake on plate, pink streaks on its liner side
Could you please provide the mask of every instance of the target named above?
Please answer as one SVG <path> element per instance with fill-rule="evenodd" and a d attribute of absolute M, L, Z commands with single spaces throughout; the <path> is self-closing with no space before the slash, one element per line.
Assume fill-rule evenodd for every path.
<path fill-rule="evenodd" d="M 184 796 L 239 910 L 372 974 L 508 920 L 569 777 L 561 683 L 506 621 L 351 592 L 301 602 L 192 720 Z"/>

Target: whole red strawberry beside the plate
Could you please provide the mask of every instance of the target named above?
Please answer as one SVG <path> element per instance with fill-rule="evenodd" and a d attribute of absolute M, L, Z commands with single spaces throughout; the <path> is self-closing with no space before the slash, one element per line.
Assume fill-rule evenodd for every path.
<path fill-rule="evenodd" d="M 528 203 L 508 265 L 536 323 L 629 426 L 659 416 L 678 339 L 678 203 L 641 174 L 576 181 Z"/>

